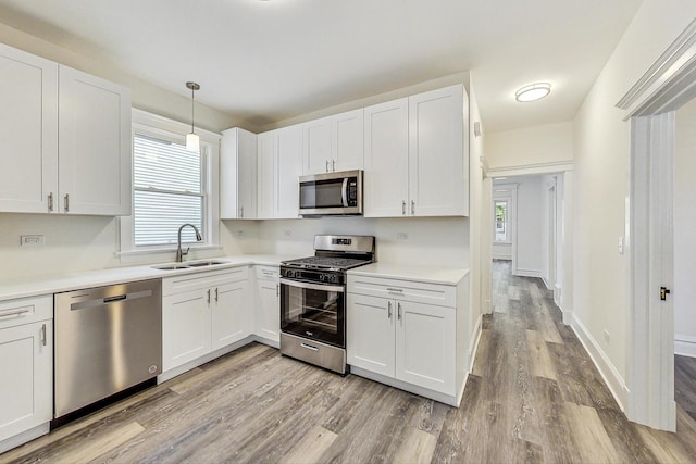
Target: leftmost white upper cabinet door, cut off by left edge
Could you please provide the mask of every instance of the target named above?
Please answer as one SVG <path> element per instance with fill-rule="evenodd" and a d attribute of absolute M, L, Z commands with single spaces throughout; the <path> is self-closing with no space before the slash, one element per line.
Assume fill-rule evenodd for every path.
<path fill-rule="evenodd" d="M 0 211 L 49 212 L 58 196 L 58 63 L 0 43 Z"/>

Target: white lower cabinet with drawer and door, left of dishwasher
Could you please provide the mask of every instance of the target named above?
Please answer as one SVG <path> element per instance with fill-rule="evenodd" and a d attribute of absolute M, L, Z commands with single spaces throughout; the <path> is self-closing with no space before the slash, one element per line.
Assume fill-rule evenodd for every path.
<path fill-rule="evenodd" d="M 1 453 L 53 418 L 52 296 L 0 302 L 0 373 Z"/>

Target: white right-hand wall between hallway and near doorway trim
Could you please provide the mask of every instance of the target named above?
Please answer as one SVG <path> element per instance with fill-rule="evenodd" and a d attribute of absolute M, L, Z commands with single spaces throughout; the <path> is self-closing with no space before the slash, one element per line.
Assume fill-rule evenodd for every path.
<path fill-rule="evenodd" d="M 694 17 L 693 0 L 645 0 L 574 120 L 573 327 L 622 402 L 629 256 L 619 254 L 618 240 L 625 235 L 631 134 L 614 105 Z"/>

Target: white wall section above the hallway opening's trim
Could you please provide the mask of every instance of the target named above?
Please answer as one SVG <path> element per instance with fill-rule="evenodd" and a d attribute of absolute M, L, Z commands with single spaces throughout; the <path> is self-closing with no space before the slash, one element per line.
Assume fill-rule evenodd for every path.
<path fill-rule="evenodd" d="M 573 123 L 487 134 L 485 143 L 492 170 L 568 163 L 573 160 Z"/>

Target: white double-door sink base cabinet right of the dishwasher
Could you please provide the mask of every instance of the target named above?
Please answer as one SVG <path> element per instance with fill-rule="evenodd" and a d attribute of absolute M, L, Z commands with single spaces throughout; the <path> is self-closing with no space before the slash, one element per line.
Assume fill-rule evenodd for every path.
<path fill-rule="evenodd" d="M 162 279 L 162 369 L 251 334 L 248 266 Z"/>

